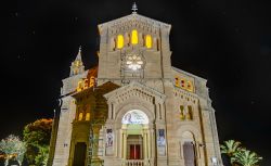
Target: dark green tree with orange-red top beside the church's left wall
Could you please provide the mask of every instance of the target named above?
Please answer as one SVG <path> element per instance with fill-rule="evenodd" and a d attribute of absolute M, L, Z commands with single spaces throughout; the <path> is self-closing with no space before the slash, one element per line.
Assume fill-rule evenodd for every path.
<path fill-rule="evenodd" d="M 52 131 L 52 119 L 38 119 L 24 128 L 27 145 L 26 159 L 29 165 L 43 166 L 48 159 Z"/>

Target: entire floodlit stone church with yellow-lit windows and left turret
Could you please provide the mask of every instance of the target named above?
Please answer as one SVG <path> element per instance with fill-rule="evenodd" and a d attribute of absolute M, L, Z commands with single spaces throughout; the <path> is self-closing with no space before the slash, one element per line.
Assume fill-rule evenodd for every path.
<path fill-rule="evenodd" d="M 98 27 L 99 64 L 79 50 L 63 79 L 49 165 L 222 166 L 207 80 L 171 66 L 171 26 L 133 12 Z"/>

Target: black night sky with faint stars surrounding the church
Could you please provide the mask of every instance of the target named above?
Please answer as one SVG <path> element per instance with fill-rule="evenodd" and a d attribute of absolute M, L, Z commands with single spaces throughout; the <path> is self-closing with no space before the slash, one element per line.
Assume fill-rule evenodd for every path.
<path fill-rule="evenodd" d="M 0 139 L 52 117 L 78 47 L 96 63 L 96 25 L 131 13 L 130 0 L 1 3 Z M 177 2 L 177 1 L 176 1 Z M 261 0 L 138 0 L 139 13 L 172 25 L 172 65 L 208 79 L 220 141 L 235 139 L 271 165 L 271 10 Z"/>

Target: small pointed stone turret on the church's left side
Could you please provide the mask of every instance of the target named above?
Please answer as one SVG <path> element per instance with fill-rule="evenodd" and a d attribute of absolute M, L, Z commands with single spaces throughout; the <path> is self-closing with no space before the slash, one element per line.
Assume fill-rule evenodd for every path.
<path fill-rule="evenodd" d="M 78 54 L 74 62 L 70 65 L 70 74 L 69 76 L 78 75 L 85 72 L 85 66 L 81 58 L 81 47 L 79 47 Z"/>

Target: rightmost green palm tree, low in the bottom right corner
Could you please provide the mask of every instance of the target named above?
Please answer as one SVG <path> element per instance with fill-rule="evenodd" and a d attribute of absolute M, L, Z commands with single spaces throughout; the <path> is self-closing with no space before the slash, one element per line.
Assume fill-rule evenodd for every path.
<path fill-rule="evenodd" d="M 261 159 L 262 157 L 258 156 L 255 152 L 250 152 L 245 149 L 240 149 L 231 157 L 231 163 L 238 163 L 243 166 L 255 166 Z"/>

